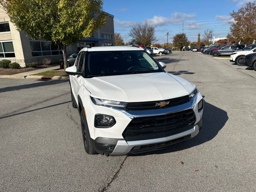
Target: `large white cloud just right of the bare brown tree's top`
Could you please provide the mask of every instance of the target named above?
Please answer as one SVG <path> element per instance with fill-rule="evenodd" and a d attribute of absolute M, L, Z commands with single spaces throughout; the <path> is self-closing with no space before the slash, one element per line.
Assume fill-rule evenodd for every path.
<path fill-rule="evenodd" d="M 154 16 L 153 18 L 148 19 L 148 22 L 153 26 L 164 26 L 168 24 L 180 25 L 182 24 L 182 20 L 194 17 L 196 17 L 196 14 L 174 12 L 169 18 L 162 16 Z"/>

